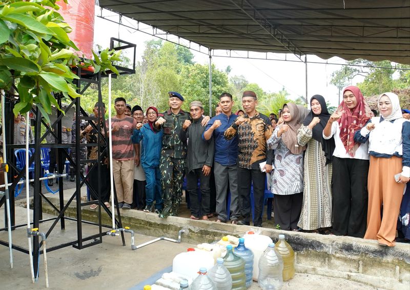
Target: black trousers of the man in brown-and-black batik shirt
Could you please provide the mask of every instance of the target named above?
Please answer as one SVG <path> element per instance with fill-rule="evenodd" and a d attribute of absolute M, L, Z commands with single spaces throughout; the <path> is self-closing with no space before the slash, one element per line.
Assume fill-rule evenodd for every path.
<path fill-rule="evenodd" d="M 253 185 L 254 219 L 255 226 L 262 225 L 263 195 L 266 173 L 259 169 L 245 169 L 238 167 L 238 193 L 240 214 L 246 222 L 251 221 L 251 184 Z"/>

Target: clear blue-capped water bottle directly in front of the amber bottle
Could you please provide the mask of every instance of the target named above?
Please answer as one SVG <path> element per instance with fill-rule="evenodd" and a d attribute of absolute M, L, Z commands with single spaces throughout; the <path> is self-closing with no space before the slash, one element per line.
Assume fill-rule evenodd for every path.
<path fill-rule="evenodd" d="M 263 290 L 277 290 L 282 287 L 283 261 L 275 249 L 275 244 L 270 243 L 262 257 L 259 259 L 258 284 Z"/>

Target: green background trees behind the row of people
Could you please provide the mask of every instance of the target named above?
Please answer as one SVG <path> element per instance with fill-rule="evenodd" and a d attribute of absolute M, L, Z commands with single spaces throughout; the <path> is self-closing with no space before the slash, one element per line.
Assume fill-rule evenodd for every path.
<path fill-rule="evenodd" d="M 140 105 L 144 110 L 149 106 L 156 106 L 159 111 L 168 109 L 168 91 L 180 92 L 185 98 L 182 105 L 183 110 L 189 109 L 192 101 L 201 101 L 204 111 L 209 114 L 209 66 L 208 64 L 198 64 L 194 62 L 192 52 L 183 46 L 178 46 L 170 42 L 161 40 L 151 40 L 145 43 L 145 50 L 141 60 L 136 63 L 136 73 L 130 75 L 120 75 L 112 80 L 112 98 L 124 97 L 127 102 L 134 106 Z M 130 65 L 127 57 L 122 57 L 126 65 Z M 364 76 L 364 81 L 358 86 L 363 94 L 368 97 L 368 102 L 375 107 L 374 95 L 385 91 L 396 92 L 402 106 L 410 107 L 410 71 L 399 71 L 398 78 L 393 78 L 395 67 L 389 61 L 368 62 L 365 60 L 355 60 L 348 62 L 352 65 L 373 65 L 391 67 L 392 69 L 362 68 L 355 66 L 345 66 L 332 74 L 331 84 L 342 90 L 350 85 L 356 75 Z M 403 68 L 410 66 L 400 65 Z M 282 88 L 278 92 L 266 92 L 258 84 L 249 83 L 243 75 L 231 75 L 231 68 L 219 70 L 212 65 L 212 111 L 214 115 L 218 97 L 221 92 L 228 91 L 234 97 L 233 111 L 239 110 L 241 106 L 241 95 L 245 90 L 255 91 L 258 95 L 258 110 L 264 114 L 277 111 L 286 102 L 289 102 L 289 93 Z M 108 81 L 102 81 L 103 100 L 108 103 Z M 372 98 L 373 96 L 373 98 Z M 88 89 L 81 105 L 89 112 L 97 101 L 97 91 Z M 301 96 L 292 102 L 306 105 Z M 377 107 L 377 106 L 376 106 Z M 335 107 L 330 107 L 333 111 Z M 114 112 L 114 106 L 112 104 Z"/>

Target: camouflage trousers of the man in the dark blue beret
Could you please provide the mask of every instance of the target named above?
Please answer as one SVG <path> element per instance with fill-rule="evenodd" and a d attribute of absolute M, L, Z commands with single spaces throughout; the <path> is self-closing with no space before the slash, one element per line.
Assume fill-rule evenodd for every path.
<path fill-rule="evenodd" d="M 161 171 L 162 200 L 164 206 L 172 203 L 179 207 L 182 197 L 182 181 L 185 171 L 185 159 L 161 156 L 159 170 Z"/>

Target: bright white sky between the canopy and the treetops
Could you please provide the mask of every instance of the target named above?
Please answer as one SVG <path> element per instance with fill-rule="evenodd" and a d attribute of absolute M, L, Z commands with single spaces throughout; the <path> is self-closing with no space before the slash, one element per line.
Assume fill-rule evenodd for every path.
<path fill-rule="evenodd" d="M 99 7 L 96 7 L 95 13 L 100 15 Z M 117 14 L 103 10 L 103 16 L 109 20 L 118 22 L 119 18 Z M 137 23 L 129 18 L 122 17 L 122 24 L 137 27 Z M 139 24 L 138 28 L 144 32 L 151 33 L 153 29 L 144 24 Z M 141 56 L 144 52 L 146 41 L 152 39 L 158 39 L 155 36 L 146 34 L 144 32 L 136 31 L 135 29 L 128 28 L 122 25 L 118 25 L 111 21 L 95 17 L 94 24 L 94 45 L 99 44 L 103 48 L 107 48 L 110 45 L 110 38 L 116 37 L 121 40 L 128 41 L 137 45 L 136 47 L 136 60 L 141 60 Z M 168 36 L 169 40 L 177 42 L 177 37 Z M 182 41 L 183 42 L 183 41 Z M 188 44 L 188 43 L 187 43 Z M 194 54 L 194 61 L 199 64 L 209 64 L 209 56 L 204 53 L 191 50 Z M 201 51 L 207 52 L 202 48 Z M 229 55 L 227 51 L 216 50 L 215 55 Z M 247 55 L 247 52 L 232 51 L 231 56 Z M 250 56 L 253 57 L 265 57 L 264 53 L 250 52 Z M 287 59 L 296 60 L 296 57 L 291 54 L 270 54 L 270 58 L 284 60 Z M 303 56 L 302 56 L 303 57 Z M 325 64 L 325 60 L 320 59 L 315 55 L 308 55 L 308 62 L 321 62 L 322 64 L 308 63 L 308 100 L 314 94 L 321 94 L 329 101 L 333 106 L 337 106 L 339 103 L 339 90 L 336 86 L 331 85 L 331 74 L 335 70 L 340 69 L 340 65 Z M 344 60 L 339 57 L 332 57 L 329 59 L 330 63 L 344 64 Z M 243 75 L 249 83 L 258 84 L 266 92 L 276 92 L 283 87 L 290 93 L 291 99 L 296 99 L 298 96 L 305 96 L 305 64 L 300 62 L 288 62 L 288 61 L 274 61 L 274 60 L 255 60 L 255 59 L 240 59 L 234 57 L 221 57 L 213 56 L 212 63 L 216 68 L 225 70 L 227 66 L 231 66 L 230 76 Z M 352 84 L 361 82 L 360 78 L 355 78 Z M 172 88 L 170 88 L 172 90 Z"/>

